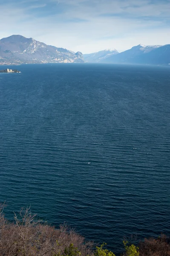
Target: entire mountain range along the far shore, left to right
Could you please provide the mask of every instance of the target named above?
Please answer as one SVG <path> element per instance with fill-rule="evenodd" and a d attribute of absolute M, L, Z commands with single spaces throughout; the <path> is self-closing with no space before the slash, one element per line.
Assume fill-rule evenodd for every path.
<path fill-rule="evenodd" d="M 124 52 L 106 49 L 83 55 L 81 52 L 75 53 L 47 45 L 22 35 L 12 35 L 0 40 L 0 64 L 57 62 L 170 65 L 170 44 L 139 44 Z"/>

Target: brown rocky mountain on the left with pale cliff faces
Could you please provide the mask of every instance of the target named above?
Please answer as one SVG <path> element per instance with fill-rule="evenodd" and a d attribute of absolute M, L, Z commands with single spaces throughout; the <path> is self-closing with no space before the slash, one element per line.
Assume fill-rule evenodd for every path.
<path fill-rule="evenodd" d="M 46 45 L 33 38 L 12 35 L 0 40 L 0 64 L 83 63 L 81 52 Z"/>

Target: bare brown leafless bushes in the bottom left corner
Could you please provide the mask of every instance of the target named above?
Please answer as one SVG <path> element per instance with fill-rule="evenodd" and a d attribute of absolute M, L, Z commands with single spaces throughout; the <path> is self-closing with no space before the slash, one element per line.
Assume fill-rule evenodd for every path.
<path fill-rule="evenodd" d="M 36 220 L 30 208 L 8 222 L 0 206 L 0 256 L 93 256 L 93 243 L 61 225 L 55 229 Z M 81 252 L 81 253 L 80 253 Z"/>

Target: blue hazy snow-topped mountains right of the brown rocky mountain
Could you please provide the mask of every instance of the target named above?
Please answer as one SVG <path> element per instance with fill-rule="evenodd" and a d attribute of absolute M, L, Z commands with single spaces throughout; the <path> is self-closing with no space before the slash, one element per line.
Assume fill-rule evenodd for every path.
<path fill-rule="evenodd" d="M 115 63 L 115 64 L 170 64 L 170 44 L 161 46 L 146 46 L 139 44 L 124 52 L 105 50 L 85 54 L 86 62 Z"/>

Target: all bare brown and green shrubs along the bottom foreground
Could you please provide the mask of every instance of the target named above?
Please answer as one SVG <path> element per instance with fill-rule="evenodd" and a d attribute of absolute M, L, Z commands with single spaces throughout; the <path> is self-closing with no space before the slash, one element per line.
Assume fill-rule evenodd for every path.
<path fill-rule="evenodd" d="M 6 220 L 0 206 L 0 256 L 115 256 L 104 248 L 94 249 L 93 242 L 61 225 L 55 229 L 42 221 L 36 221 L 30 208 L 14 213 L 14 222 Z M 166 236 L 144 239 L 136 247 L 124 243 L 122 256 L 170 256 L 170 241 Z"/>

